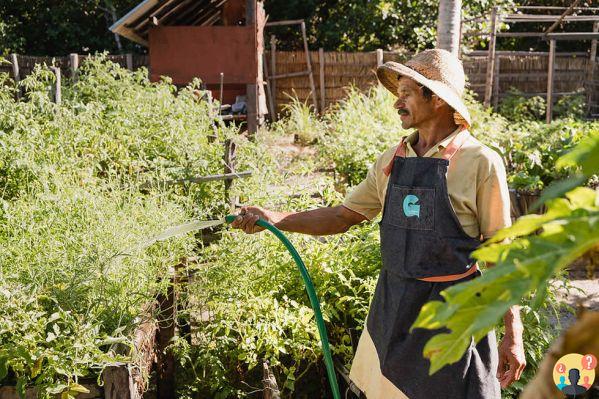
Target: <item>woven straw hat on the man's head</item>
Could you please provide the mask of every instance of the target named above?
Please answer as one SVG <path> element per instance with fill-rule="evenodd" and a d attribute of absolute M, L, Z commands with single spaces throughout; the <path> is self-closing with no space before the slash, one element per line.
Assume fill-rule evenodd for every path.
<path fill-rule="evenodd" d="M 377 68 L 376 76 L 396 96 L 401 76 L 428 87 L 456 111 L 454 119 L 457 125 L 470 127 L 470 113 L 462 100 L 466 85 L 464 68 L 461 61 L 449 51 L 425 50 L 405 64 L 385 62 Z"/>

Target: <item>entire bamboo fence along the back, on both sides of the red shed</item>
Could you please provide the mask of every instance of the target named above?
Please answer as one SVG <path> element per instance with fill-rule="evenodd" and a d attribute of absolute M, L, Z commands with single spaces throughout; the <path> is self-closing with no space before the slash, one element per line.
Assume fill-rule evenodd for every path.
<path fill-rule="evenodd" d="M 62 76 L 70 78 L 73 62 L 81 64 L 87 56 L 73 55 L 62 57 L 16 56 L 19 79 L 31 73 L 35 64 L 54 65 L 62 71 Z M 109 60 L 123 67 L 135 70 L 142 66 L 149 67 L 147 55 L 108 55 Z M 349 86 L 367 90 L 376 84 L 375 70 L 380 62 L 406 61 L 409 53 L 390 51 L 372 52 L 325 52 L 310 51 L 313 78 L 318 101 L 318 109 L 326 109 L 342 100 Z M 265 51 L 267 70 L 276 71 L 276 75 L 286 75 L 306 71 L 306 53 L 303 51 L 276 51 L 275 68 L 272 65 L 272 54 Z M 12 58 L 7 58 L 10 61 Z M 468 87 L 482 101 L 485 93 L 487 62 L 486 52 L 473 52 L 462 57 L 464 70 L 468 79 Z M 493 77 L 492 105 L 497 106 L 511 88 L 524 93 L 525 96 L 547 96 L 548 53 L 535 52 L 501 52 L 498 51 Z M 573 93 L 584 92 L 589 99 L 590 114 L 599 112 L 599 68 L 597 58 L 591 61 L 586 54 L 556 53 L 554 71 L 555 99 Z M 75 68 L 76 69 L 76 68 Z M 589 73 L 589 71 L 594 71 Z M 0 73 L 6 72 L 14 77 L 14 69 L 10 63 L 0 64 Z M 322 84 L 324 83 L 324 84 Z M 274 103 L 281 112 L 291 97 L 298 97 L 307 104 L 313 104 L 311 86 L 308 75 L 285 77 L 276 80 Z M 324 88 L 324 90 L 323 90 Z"/>

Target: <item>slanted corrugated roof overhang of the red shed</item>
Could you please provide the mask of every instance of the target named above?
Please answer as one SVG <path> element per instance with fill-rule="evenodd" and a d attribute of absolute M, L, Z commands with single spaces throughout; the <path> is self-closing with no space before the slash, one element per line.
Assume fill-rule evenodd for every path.
<path fill-rule="evenodd" d="M 110 27 L 136 43 L 148 45 L 152 25 L 206 26 L 221 20 L 227 0 L 144 0 Z"/>

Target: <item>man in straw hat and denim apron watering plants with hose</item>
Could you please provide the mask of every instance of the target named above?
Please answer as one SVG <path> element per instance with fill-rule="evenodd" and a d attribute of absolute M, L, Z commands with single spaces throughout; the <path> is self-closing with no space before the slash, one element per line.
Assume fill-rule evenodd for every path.
<path fill-rule="evenodd" d="M 470 253 L 510 224 L 503 163 L 467 130 L 464 71 L 449 52 L 387 62 L 377 76 L 397 96 L 402 127 L 415 132 L 378 158 L 343 205 L 289 213 L 245 207 L 233 226 L 254 233 L 263 218 L 281 230 L 336 234 L 382 212 L 383 267 L 351 380 L 368 399 L 500 398 L 499 386 L 525 366 L 516 308 L 504 317 L 499 351 L 491 332 L 432 376 L 422 349 L 438 331 L 409 330 L 426 302 L 480 275 Z"/>

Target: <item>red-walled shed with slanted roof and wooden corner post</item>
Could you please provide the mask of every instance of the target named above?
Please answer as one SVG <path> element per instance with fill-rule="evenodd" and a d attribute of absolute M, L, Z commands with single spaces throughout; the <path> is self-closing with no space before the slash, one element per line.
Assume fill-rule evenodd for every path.
<path fill-rule="evenodd" d="M 144 0 L 110 30 L 148 47 L 150 77 L 176 85 L 198 77 L 223 104 L 246 96 L 247 127 L 266 114 L 262 78 L 264 7 L 257 0 Z"/>

